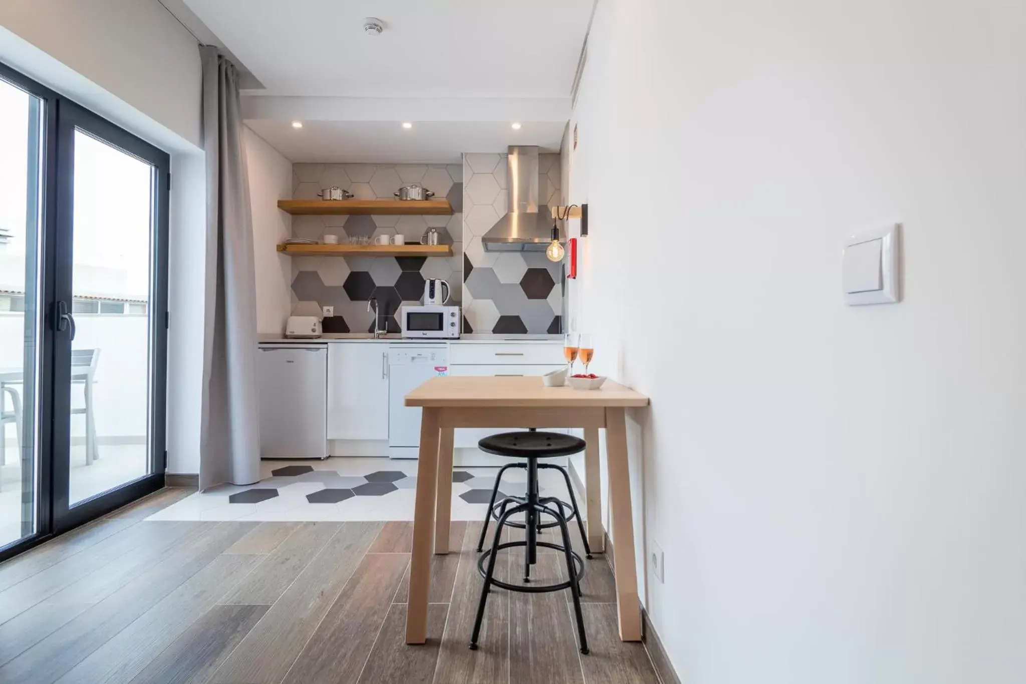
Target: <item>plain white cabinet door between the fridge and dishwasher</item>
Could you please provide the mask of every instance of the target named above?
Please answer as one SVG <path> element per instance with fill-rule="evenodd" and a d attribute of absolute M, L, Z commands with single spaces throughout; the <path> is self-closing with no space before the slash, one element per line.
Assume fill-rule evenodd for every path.
<path fill-rule="evenodd" d="M 388 439 L 388 345 L 327 346 L 327 438 Z"/>

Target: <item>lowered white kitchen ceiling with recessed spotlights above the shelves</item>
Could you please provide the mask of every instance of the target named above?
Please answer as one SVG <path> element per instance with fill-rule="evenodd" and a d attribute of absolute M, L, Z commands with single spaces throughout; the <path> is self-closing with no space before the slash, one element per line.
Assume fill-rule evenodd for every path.
<path fill-rule="evenodd" d="M 288 121 L 247 119 L 246 125 L 293 162 L 459 163 L 461 152 L 500 152 L 537 145 L 559 152 L 564 122 L 425 121 L 404 129 L 397 121 Z"/>

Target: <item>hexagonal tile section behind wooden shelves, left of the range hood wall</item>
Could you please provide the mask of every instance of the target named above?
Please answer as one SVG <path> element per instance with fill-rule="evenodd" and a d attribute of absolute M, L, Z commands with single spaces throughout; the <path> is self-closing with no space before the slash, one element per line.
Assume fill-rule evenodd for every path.
<path fill-rule="evenodd" d="M 402 235 L 419 242 L 429 227 L 441 233 L 441 242 L 452 245 L 452 256 L 409 257 L 292 257 L 292 313 L 320 315 L 321 307 L 333 306 L 348 330 L 372 328 L 373 315 L 366 300 L 378 298 L 384 321 L 391 332 L 399 331 L 396 318 L 402 303 L 413 304 L 424 293 L 425 278 L 442 278 L 452 288 L 452 303 L 463 299 L 463 167 L 460 164 L 293 164 L 292 196 L 316 197 L 324 188 L 339 186 L 357 198 L 393 199 L 400 185 L 420 183 L 437 197 L 447 197 L 457 213 L 452 216 L 298 216 L 292 234 L 320 240 L 338 235 L 374 238 Z M 455 199 L 459 198 L 459 199 Z"/>

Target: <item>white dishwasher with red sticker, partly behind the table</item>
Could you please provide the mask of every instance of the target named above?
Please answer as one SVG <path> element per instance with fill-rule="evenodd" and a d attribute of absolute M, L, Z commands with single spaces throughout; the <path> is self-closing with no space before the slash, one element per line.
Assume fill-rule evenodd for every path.
<path fill-rule="evenodd" d="M 435 375 L 448 374 L 444 344 L 391 345 L 388 350 L 388 453 L 417 458 L 421 445 L 421 409 L 403 406 L 403 397 Z"/>

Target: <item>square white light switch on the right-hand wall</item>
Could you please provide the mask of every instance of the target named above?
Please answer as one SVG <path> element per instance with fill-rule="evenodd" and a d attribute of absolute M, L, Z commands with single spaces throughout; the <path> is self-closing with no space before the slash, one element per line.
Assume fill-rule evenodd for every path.
<path fill-rule="evenodd" d="M 841 263 L 844 299 L 852 306 L 898 301 L 898 227 L 890 224 L 852 235 Z"/>

